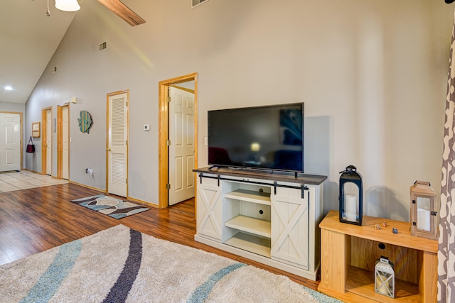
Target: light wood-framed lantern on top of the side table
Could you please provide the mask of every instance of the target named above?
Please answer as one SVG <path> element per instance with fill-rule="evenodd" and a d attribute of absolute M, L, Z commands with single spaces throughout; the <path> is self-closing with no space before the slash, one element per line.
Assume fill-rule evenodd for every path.
<path fill-rule="evenodd" d="M 416 181 L 410 187 L 411 234 L 422 238 L 437 239 L 439 216 L 436 192 L 429 182 Z"/>

